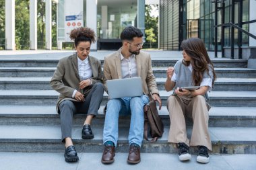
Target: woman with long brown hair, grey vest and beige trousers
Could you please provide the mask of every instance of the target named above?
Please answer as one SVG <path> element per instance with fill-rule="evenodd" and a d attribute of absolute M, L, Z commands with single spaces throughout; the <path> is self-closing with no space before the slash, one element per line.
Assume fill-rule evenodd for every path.
<path fill-rule="evenodd" d="M 197 162 L 208 163 L 207 150 L 212 151 L 212 143 L 208 131 L 210 105 L 207 91 L 212 89 L 216 79 L 214 65 L 199 38 L 184 40 L 181 48 L 183 59 L 166 71 L 165 89 L 174 89 L 167 100 L 170 115 L 168 142 L 178 145 L 180 161 L 190 160 L 189 146 L 197 146 Z M 182 88 L 191 86 L 198 86 L 198 89 Z M 187 138 L 185 117 L 193 120 L 190 141 Z"/>

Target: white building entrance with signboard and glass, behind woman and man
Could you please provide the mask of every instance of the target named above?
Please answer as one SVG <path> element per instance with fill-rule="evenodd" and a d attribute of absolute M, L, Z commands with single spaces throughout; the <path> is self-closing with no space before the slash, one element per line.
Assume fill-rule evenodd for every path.
<path fill-rule="evenodd" d="M 121 46 L 123 28 L 135 26 L 145 30 L 145 0 L 59 0 L 58 31 L 59 48 L 69 42 L 70 30 L 76 28 L 77 16 L 82 19 L 79 26 L 88 26 L 97 34 L 93 50 L 116 50 Z M 80 16 L 81 15 L 81 16 Z M 72 20 L 73 19 L 73 20 Z"/>

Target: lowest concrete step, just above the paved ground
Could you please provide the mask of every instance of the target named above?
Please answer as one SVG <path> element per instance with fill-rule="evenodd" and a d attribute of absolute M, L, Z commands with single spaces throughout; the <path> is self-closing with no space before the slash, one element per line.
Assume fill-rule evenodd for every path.
<path fill-rule="evenodd" d="M 60 126 L 0 126 L 0 152 L 63 152 Z M 92 126 L 94 139 L 81 138 L 82 126 L 73 127 L 72 139 L 78 152 L 101 153 L 102 126 Z M 169 127 L 164 128 L 162 138 L 152 143 L 143 140 L 141 153 L 177 153 L 177 148 L 167 142 Z M 187 128 L 190 138 L 191 128 Z M 212 153 L 256 154 L 256 128 L 209 128 L 212 140 Z M 119 144 L 117 153 L 127 153 L 129 145 L 128 126 L 119 126 Z M 191 153 L 195 148 L 191 147 Z"/>

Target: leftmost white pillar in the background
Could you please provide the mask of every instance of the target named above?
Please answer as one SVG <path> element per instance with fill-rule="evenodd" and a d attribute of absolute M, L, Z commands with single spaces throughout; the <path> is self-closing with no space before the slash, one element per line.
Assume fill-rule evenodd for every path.
<path fill-rule="evenodd" d="M 15 0 L 5 0 L 6 50 L 15 50 Z"/>

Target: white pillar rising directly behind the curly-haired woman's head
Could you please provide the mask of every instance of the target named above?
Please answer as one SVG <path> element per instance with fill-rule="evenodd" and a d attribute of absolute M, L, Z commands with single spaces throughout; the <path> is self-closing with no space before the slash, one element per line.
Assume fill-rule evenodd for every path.
<path fill-rule="evenodd" d="M 86 26 L 97 34 L 97 0 L 86 0 Z M 92 44 L 91 50 L 97 50 L 97 42 Z"/>

